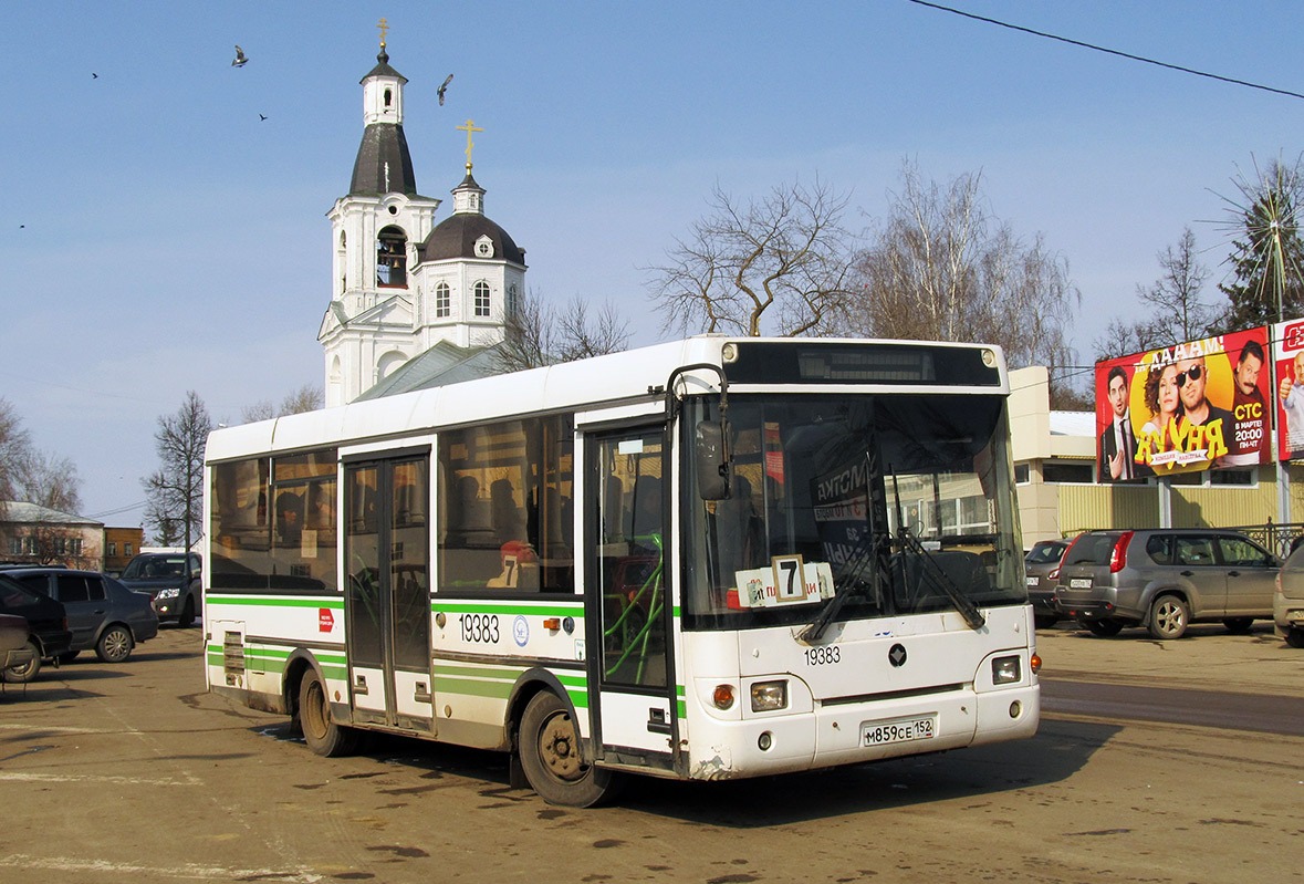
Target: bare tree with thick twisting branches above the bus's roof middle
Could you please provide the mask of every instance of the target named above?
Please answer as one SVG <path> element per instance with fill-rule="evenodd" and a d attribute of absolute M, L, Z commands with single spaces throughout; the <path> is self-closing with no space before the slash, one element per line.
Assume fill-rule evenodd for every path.
<path fill-rule="evenodd" d="M 857 240 L 848 197 L 819 179 L 746 205 L 716 186 L 711 214 L 649 267 L 665 329 L 778 336 L 819 332 L 848 296 Z"/>

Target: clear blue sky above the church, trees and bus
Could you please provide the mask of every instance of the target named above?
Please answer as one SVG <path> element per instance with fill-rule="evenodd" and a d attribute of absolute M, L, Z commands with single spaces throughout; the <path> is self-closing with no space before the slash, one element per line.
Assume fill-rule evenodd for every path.
<path fill-rule="evenodd" d="M 1295 1 L 949 5 L 1304 93 Z M 138 524 L 156 419 L 186 390 L 237 421 L 322 383 L 325 213 L 382 16 L 420 192 L 462 179 L 454 126 L 473 119 L 486 213 L 528 250 L 529 288 L 612 299 L 636 343 L 660 339 L 640 267 L 713 185 L 819 175 L 868 220 L 909 156 L 939 181 L 981 171 L 990 210 L 1068 258 L 1085 362 L 1187 226 L 1218 297 L 1218 194 L 1304 149 L 1301 99 L 906 0 L 5 4 L 0 396 L 77 463 L 85 514 Z"/>

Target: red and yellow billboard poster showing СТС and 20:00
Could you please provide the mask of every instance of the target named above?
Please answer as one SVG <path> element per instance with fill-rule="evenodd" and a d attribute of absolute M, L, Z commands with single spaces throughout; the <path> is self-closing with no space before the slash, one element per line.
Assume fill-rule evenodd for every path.
<path fill-rule="evenodd" d="M 1260 327 L 1097 362 L 1099 480 L 1269 463 L 1266 351 Z"/>

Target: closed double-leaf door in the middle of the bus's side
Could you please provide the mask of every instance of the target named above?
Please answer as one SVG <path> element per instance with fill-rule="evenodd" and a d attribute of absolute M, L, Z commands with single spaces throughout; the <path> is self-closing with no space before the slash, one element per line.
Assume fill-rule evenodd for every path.
<path fill-rule="evenodd" d="M 355 724 L 432 733 L 429 455 L 344 464 L 344 610 Z"/>

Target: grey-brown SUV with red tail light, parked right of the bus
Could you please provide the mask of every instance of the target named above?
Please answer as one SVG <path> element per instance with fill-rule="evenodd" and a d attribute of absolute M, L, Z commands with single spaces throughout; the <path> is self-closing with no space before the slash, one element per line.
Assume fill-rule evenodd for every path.
<path fill-rule="evenodd" d="M 1244 632 L 1273 615 L 1281 561 L 1235 531 L 1088 531 L 1064 553 L 1055 604 L 1095 635 L 1145 626 L 1180 639 L 1191 623 Z"/>

